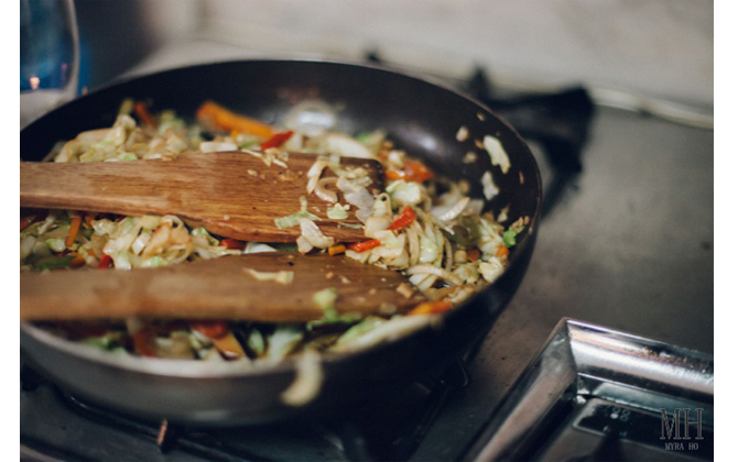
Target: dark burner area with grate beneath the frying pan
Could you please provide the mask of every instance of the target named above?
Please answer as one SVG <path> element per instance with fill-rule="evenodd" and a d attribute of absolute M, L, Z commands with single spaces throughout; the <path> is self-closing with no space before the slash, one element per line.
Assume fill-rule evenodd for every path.
<path fill-rule="evenodd" d="M 349 417 L 269 427 L 188 428 L 151 422 L 75 397 L 21 367 L 21 444 L 26 459 L 56 460 L 406 460 L 453 391 L 467 383 L 457 361 Z"/>

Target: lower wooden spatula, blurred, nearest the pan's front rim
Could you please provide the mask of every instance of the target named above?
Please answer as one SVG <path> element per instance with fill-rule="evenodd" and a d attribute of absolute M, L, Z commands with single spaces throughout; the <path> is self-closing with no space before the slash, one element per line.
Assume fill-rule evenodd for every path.
<path fill-rule="evenodd" d="M 292 272 L 282 284 L 270 279 Z M 289 274 L 287 274 L 289 275 Z M 283 275 L 284 276 L 284 275 Z M 321 319 L 315 293 L 335 288 L 335 309 L 404 312 L 424 297 L 398 292 L 391 270 L 326 254 L 260 253 L 131 271 L 54 271 L 21 275 L 21 320 L 224 319 L 296 322 Z"/>

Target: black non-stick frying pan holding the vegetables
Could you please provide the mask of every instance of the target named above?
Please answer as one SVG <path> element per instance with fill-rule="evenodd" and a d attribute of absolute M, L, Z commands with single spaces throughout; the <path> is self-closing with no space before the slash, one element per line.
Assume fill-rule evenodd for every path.
<path fill-rule="evenodd" d="M 500 193 L 487 208 L 499 212 L 509 207 L 508 223 L 519 217 L 531 221 L 519 234 L 504 274 L 444 315 L 442 322 L 360 352 L 326 354 L 321 360 L 321 389 L 305 405 L 281 399 L 296 376 L 290 361 L 253 367 L 122 356 L 22 323 L 26 361 L 75 396 L 140 418 L 198 426 L 338 413 L 442 371 L 484 338 L 521 282 L 541 208 L 538 166 L 511 127 L 453 89 L 378 66 L 335 62 L 241 61 L 184 67 L 111 85 L 47 113 L 21 131 L 21 157 L 40 161 L 59 140 L 110 127 L 124 98 L 151 100 L 154 109 L 171 108 L 183 117 L 193 117 L 210 99 L 275 125 L 295 103 L 319 99 L 337 108 L 337 130 L 356 134 L 383 129 L 398 147 L 435 172 L 466 178 L 475 197 L 482 197 L 480 178 L 491 170 Z M 469 132 L 463 142 L 456 139 L 460 127 Z M 475 140 L 486 134 L 497 136 L 510 157 L 511 168 L 504 175 L 484 150 L 475 147 Z M 477 152 L 476 162 L 462 162 L 468 151 Z"/>

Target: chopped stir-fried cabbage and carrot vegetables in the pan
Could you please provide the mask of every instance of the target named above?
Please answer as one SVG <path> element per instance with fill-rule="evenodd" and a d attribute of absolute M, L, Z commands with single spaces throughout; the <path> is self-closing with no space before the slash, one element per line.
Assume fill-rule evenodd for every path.
<path fill-rule="evenodd" d="M 262 158 L 265 165 L 289 168 L 289 152 L 313 153 L 315 164 L 303 177 L 306 188 L 300 208 L 295 205 L 294 213 L 274 219 L 278 228 L 300 227 L 302 235 L 294 244 L 272 246 L 223 239 L 203 228 L 191 228 L 174 216 L 25 210 L 20 224 L 21 271 L 129 270 L 250 252 L 325 252 L 397 270 L 408 277 L 398 292 L 411 296 L 416 289 L 428 301 L 405 316 L 392 316 L 388 310 L 387 318 L 360 319 L 339 315 L 335 309 L 339 293 L 329 288 L 313 297 L 323 318 L 303 324 L 129 319 L 124 326 L 96 324 L 91 329 L 84 323 L 59 323 L 45 324 L 47 328 L 109 351 L 151 358 L 276 363 L 303 352 L 313 358 L 315 351 L 352 351 L 416 329 L 424 324 L 423 319 L 454 309 L 496 280 L 528 224 L 522 218 L 503 226 L 507 210 L 497 219 L 484 212 L 484 200 L 468 196 L 468 184 L 434 175 L 423 163 L 395 150 L 380 130 L 356 138 L 330 128 L 302 130 L 293 123 L 300 120 L 294 117 L 287 130 L 213 101 L 200 106 L 196 119 L 197 123 L 189 124 L 173 111 L 153 112 L 146 102 L 127 100 L 111 128 L 78 134 L 54 161 L 121 162 L 240 150 L 243 155 Z M 510 168 L 497 139 L 485 136 L 481 147 L 493 165 Z M 366 170 L 341 164 L 341 156 L 348 155 L 380 161 L 386 189 L 369 190 L 371 180 Z M 327 172 L 332 175 L 325 175 Z M 488 198 L 498 193 L 490 172 L 482 177 L 482 189 Z M 310 195 L 325 201 L 327 216 L 339 220 L 339 226 L 354 227 L 340 220 L 356 217 L 366 240 L 349 244 L 323 234 L 319 217 L 307 210 Z M 295 277 L 292 272 L 246 273 L 245 277 L 283 285 Z M 344 277 L 330 276 L 336 284 Z"/>

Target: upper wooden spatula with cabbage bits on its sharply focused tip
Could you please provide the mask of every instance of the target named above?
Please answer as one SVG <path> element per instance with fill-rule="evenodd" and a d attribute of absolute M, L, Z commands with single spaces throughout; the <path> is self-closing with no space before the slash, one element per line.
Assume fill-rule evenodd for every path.
<path fill-rule="evenodd" d="M 176 215 L 187 224 L 209 232 L 254 242 L 294 242 L 300 227 L 280 229 L 275 218 L 300 210 L 319 217 L 315 223 L 336 242 L 355 242 L 363 231 L 351 206 L 345 220 L 329 219 L 328 202 L 308 195 L 311 154 L 291 154 L 286 168 L 268 166 L 242 152 L 186 154 L 172 161 L 104 163 L 21 163 L 21 207 L 70 209 L 122 215 Z M 369 190 L 383 189 L 381 164 L 343 157 L 343 166 L 363 167 L 372 180 Z M 324 176 L 333 175 L 328 168 Z M 338 193 L 341 205 L 346 205 Z M 354 228 L 350 228 L 350 227 Z"/>

